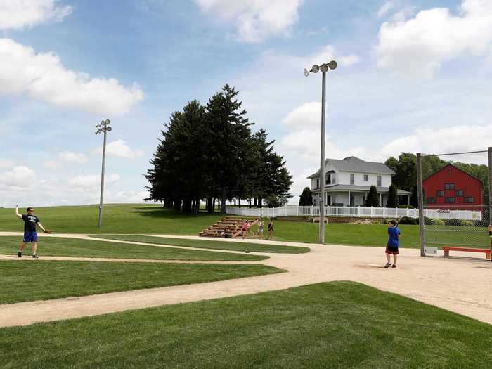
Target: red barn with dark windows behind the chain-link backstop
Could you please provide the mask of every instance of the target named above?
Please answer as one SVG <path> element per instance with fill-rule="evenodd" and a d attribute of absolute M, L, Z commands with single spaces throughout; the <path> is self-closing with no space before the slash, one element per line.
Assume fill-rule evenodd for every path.
<path fill-rule="evenodd" d="M 452 164 L 422 181 L 429 209 L 481 211 L 484 183 Z"/>

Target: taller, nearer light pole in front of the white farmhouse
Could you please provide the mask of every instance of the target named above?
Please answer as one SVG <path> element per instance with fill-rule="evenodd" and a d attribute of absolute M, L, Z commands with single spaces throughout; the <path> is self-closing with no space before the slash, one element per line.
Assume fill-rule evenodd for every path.
<path fill-rule="evenodd" d="M 322 65 L 313 65 L 311 70 L 304 69 L 304 75 L 309 76 L 310 72 L 318 73 L 321 70 L 323 82 L 321 87 L 321 158 L 320 158 L 320 233 L 319 243 L 325 243 L 325 119 L 326 119 L 326 72 L 337 69 L 335 60 Z"/>

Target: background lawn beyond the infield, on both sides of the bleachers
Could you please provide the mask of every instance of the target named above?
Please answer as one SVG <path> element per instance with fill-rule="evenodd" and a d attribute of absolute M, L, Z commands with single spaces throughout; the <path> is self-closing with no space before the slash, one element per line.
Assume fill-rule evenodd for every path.
<path fill-rule="evenodd" d="M 173 210 L 163 209 L 160 205 L 105 205 L 103 227 L 96 227 L 98 207 L 96 205 L 77 207 L 39 207 L 35 209 L 41 223 L 57 233 L 89 234 L 169 234 L 198 235 L 202 229 L 211 226 L 222 218 L 219 214 L 186 215 Z M 266 221 L 266 219 L 264 219 Z M 401 247 L 418 248 L 418 226 L 401 225 Z M 467 227 L 459 227 L 467 228 Z M 472 227 L 474 228 L 474 227 Z M 256 227 L 253 226 L 253 231 Z M 325 242 L 334 245 L 361 245 L 384 247 L 387 241 L 387 226 L 384 224 L 328 224 L 325 228 Z M 477 230 L 477 228 L 475 228 Z M 0 231 L 22 231 L 22 221 L 15 218 L 14 209 L 0 209 Z M 458 232 L 445 232 L 430 238 L 446 245 L 465 243 L 488 245 L 486 230 L 474 235 L 472 240 L 463 241 Z M 475 238 L 477 236 L 477 238 Z M 429 240 L 430 240 L 429 238 Z M 294 242 L 318 242 L 318 224 L 297 221 L 275 220 L 273 240 Z M 476 247 L 476 246 L 473 246 Z"/>

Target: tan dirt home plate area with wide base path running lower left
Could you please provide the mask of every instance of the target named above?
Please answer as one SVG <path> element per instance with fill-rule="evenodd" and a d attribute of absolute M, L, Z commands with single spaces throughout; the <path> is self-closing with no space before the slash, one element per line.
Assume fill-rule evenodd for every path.
<path fill-rule="evenodd" d="M 69 236 L 85 237 L 84 235 Z M 247 242 L 255 241 L 247 240 Z M 266 254 L 270 259 L 256 262 L 256 264 L 285 269 L 287 273 L 0 305 L 0 327 L 267 292 L 333 280 L 364 283 L 383 291 L 395 292 L 479 321 L 492 323 L 492 289 L 486 285 L 492 273 L 490 261 L 422 258 L 420 250 L 402 249 L 398 268 L 384 269 L 382 266 L 386 259 L 383 247 L 258 242 L 265 245 L 305 246 L 311 248 L 311 252 Z M 251 252 L 251 254 L 257 253 Z"/>

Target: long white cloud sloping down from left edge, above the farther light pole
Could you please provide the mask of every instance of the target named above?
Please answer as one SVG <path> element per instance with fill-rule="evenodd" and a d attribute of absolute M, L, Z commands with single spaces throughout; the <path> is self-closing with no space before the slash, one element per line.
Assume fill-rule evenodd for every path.
<path fill-rule="evenodd" d="M 0 38 L 0 94 L 27 93 L 40 101 L 95 114 L 121 115 L 143 99 L 136 84 L 91 78 L 63 67 L 54 53 L 35 53 L 30 46 Z"/>

